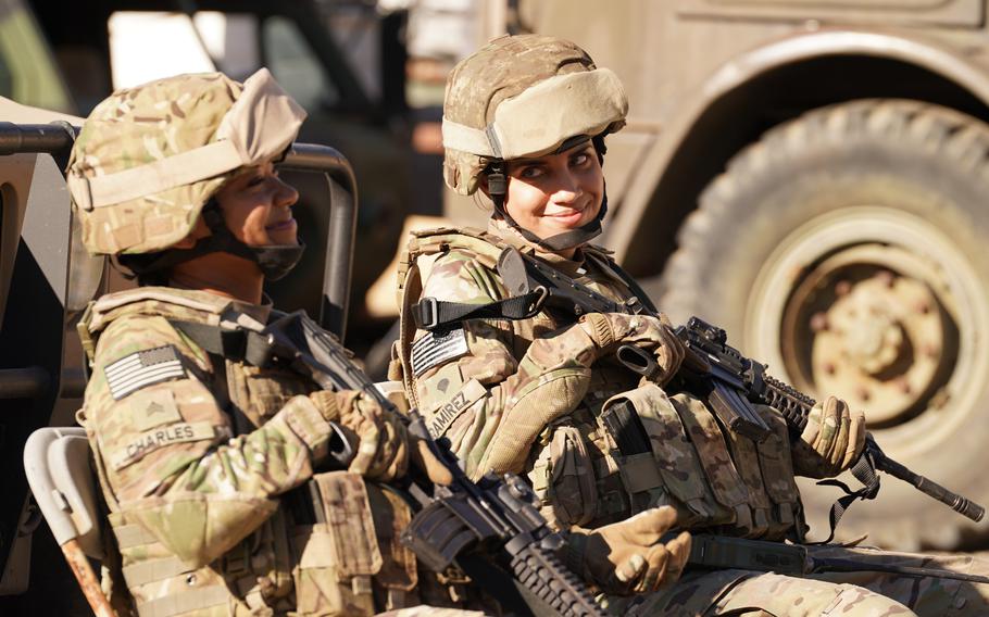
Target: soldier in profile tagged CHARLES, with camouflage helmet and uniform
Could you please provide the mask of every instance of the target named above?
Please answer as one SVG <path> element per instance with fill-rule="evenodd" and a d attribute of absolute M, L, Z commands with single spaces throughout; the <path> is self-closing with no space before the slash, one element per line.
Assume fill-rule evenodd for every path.
<path fill-rule="evenodd" d="M 118 550 L 114 601 L 143 617 L 497 610 L 398 541 L 411 512 L 386 483 L 410 464 L 450 481 L 401 418 L 220 342 L 278 315 L 263 282 L 302 245 L 298 193 L 275 165 L 304 115 L 266 70 L 243 84 L 180 75 L 114 92 L 75 142 L 84 242 L 140 282 L 79 327 L 92 370 L 78 420 Z M 325 471 L 330 423 L 356 453 L 346 471 Z M 671 525 L 653 511 L 583 534 L 589 567 L 622 580 L 665 568 L 650 545 Z"/>

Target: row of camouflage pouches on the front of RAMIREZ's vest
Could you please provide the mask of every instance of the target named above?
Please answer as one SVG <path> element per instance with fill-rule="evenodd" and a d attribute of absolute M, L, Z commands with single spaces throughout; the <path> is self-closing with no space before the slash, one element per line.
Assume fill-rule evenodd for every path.
<path fill-rule="evenodd" d="M 786 424 L 755 411 L 772 429 L 758 444 L 725 429 L 700 399 L 653 383 L 606 400 L 590 426 L 578 411 L 547 429 L 529 474 L 542 513 L 565 528 L 675 505 L 685 528 L 800 539 Z"/>

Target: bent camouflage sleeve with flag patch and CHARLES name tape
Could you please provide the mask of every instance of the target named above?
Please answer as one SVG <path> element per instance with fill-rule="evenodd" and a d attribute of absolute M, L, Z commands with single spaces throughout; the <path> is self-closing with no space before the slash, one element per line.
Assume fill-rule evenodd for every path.
<path fill-rule="evenodd" d="M 315 404 L 297 395 L 233 437 L 209 383 L 202 350 L 165 318 L 136 315 L 101 335 L 85 401 L 111 503 L 193 566 L 272 515 L 275 495 L 312 475 L 329 435 Z"/>

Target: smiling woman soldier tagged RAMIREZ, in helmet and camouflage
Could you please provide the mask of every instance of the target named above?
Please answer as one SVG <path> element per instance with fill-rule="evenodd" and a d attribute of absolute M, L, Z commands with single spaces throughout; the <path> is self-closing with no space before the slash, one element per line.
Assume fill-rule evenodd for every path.
<path fill-rule="evenodd" d="M 499 270 L 500 257 L 517 251 L 562 285 L 649 302 L 609 251 L 590 243 L 608 209 L 605 136 L 624 126 L 627 111 L 617 76 L 559 38 L 501 37 L 456 65 L 443 103 L 443 175 L 461 194 L 484 193 L 492 214 L 486 230 L 414 232 L 400 262 L 402 327 L 390 376 L 403 380 L 433 436 L 450 440 L 468 474 L 524 474 L 562 529 L 663 506 L 676 512 L 675 529 L 803 543 L 794 476 L 848 469 L 864 446 L 861 413 L 828 398 L 791 439 L 778 413 L 756 406 L 771 428 L 756 443 L 725 428 L 699 398 L 663 389 L 681 363 L 697 362 L 664 316 L 577 315 L 516 295 Z M 650 379 L 615 362 L 625 343 L 654 355 Z M 647 452 L 618 446 L 608 418 L 619 413 L 641 426 Z M 571 544 L 571 555 L 580 555 L 584 537 L 572 534 Z M 658 615 L 989 612 L 984 584 L 868 570 L 872 563 L 989 571 L 974 557 L 815 551 L 838 551 L 862 571 L 762 574 L 744 569 L 739 555 L 737 568 L 688 570 L 665 585 L 651 580 L 646 587 L 665 589 L 612 606 Z"/>

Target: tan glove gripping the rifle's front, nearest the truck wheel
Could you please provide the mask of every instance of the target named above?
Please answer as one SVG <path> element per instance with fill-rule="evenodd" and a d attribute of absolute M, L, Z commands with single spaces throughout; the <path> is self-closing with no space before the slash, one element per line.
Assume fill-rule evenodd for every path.
<path fill-rule="evenodd" d="M 793 444 L 793 470 L 809 478 L 831 478 L 848 469 L 865 448 L 865 414 L 828 396 L 811 410 L 808 426 Z"/>

